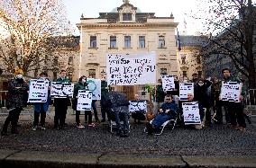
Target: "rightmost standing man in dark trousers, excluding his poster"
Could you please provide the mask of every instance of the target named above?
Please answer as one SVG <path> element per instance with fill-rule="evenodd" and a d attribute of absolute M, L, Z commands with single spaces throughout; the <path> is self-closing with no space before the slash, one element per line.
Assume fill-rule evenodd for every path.
<path fill-rule="evenodd" d="M 222 70 L 222 73 L 224 75 L 224 82 L 238 82 L 242 83 L 241 80 L 238 77 L 235 77 L 231 75 L 231 70 L 229 68 L 224 68 Z M 240 101 L 242 101 L 242 95 L 244 94 L 243 88 L 242 93 L 239 97 Z M 231 122 L 231 128 L 239 129 L 239 130 L 245 130 L 246 124 L 245 119 L 243 117 L 242 112 L 242 102 L 225 102 L 227 105 L 227 111 L 228 115 L 230 117 Z M 238 126 L 237 126 L 238 123 Z"/>

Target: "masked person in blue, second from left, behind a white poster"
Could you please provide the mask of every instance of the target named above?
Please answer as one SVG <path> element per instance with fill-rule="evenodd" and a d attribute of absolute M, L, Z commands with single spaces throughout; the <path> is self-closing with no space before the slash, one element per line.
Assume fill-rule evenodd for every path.
<path fill-rule="evenodd" d="M 40 77 L 38 80 L 40 81 L 49 81 L 47 78 L 48 74 L 46 72 L 42 72 L 40 74 Z M 45 118 L 46 118 L 46 111 L 48 111 L 49 105 L 50 105 L 50 86 L 49 86 L 49 92 L 47 97 L 47 102 L 34 102 L 34 119 L 33 119 L 33 127 L 32 130 L 35 131 L 38 128 L 39 123 L 39 117 L 41 116 L 41 130 L 45 130 Z"/>

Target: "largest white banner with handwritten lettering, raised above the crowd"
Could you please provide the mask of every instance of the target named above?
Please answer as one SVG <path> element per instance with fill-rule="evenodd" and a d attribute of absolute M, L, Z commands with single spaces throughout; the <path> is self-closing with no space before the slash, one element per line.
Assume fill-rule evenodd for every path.
<path fill-rule="evenodd" d="M 107 54 L 107 84 L 156 84 L 156 55 Z"/>

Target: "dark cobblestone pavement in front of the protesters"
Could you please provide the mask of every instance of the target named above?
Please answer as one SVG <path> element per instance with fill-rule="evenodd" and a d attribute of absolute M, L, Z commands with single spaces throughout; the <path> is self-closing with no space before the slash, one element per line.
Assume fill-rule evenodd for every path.
<path fill-rule="evenodd" d="M 0 149 L 24 151 L 50 151 L 84 154 L 118 155 L 198 155 L 198 156 L 256 156 L 256 118 L 247 123 L 245 131 L 233 130 L 225 125 L 195 130 L 192 128 L 166 128 L 160 136 L 143 132 L 145 124 L 134 124 L 131 119 L 130 137 L 116 137 L 110 133 L 108 122 L 96 128 L 76 128 L 75 115 L 69 111 L 67 129 L 53 129 L 53 112 L 47 115 L 47 129 L 32 131 L 32 114 L 20 117 L 20 134 L 0 138 Z M 6 115 L 0 115 L 2 128 Z M 84 116 L 80 119 L 84 121 Z"/>

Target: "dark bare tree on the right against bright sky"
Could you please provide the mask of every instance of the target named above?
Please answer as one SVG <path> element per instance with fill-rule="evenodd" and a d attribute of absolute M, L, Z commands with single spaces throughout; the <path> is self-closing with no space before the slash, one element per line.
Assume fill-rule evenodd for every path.
<path fill-rule="evenodd" d="M 195 18 L 203 22 L 207 34 L 214 34 L 209 40 L 215 48 L 203 52 L 230 57 L 236 69 L 248 78 L 249 88 L 255 88 L 255 1 L 203 0 L 198 3 Z"/>

